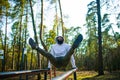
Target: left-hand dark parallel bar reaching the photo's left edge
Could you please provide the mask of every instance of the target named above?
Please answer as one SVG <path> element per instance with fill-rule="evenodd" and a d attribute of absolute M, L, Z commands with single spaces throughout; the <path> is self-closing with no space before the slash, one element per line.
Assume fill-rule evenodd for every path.
<path fill-rule="evenodd" d="M 36 69 L 36 70 L 24 70 L 24 71 L 13 71 L 13 72 L 0 72 L 0 79 L 6 79 L 15 76 L 30 75 L 30 74 L 39 74 L 44 72 L 44 80 L 47 80 L 48 69 Z"/>

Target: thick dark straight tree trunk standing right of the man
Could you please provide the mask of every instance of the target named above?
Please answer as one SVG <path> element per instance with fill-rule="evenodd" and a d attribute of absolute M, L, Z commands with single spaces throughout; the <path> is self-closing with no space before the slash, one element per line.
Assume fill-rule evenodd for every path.
<path fill-rule="evenodd" d="M 97 1 L 97 15 L 98 15 L 98 75 L 103 75 L 103 57 L 102 57 L 102 35 L 101 35 L 101 13 L 100 13 L 100 0 Z"/>

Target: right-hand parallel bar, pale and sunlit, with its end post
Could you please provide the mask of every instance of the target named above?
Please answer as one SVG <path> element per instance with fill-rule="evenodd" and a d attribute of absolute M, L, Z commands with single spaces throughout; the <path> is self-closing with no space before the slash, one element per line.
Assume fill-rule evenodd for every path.
<path fill-rule="evenodd" d="M 73 74 L 74 80 L 77 80 L 76 71 L 77 71 L 77 69 L 69 70 L 57 77 L 52 78 L 52 80 L 64 80 L 64 79 L 68 78 L 71 74 Z"/>

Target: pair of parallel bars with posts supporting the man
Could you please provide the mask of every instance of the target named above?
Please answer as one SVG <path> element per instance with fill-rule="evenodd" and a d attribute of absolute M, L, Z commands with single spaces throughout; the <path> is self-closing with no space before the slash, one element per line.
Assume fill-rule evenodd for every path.
<path fill-rule="evenodd" d="M 69 70 L 57 77 L 52 78 L 52 80 L 63 80 L 68 78 L 71 74 L 73 74 L 74 80 L 77 80 L 76 77 L 77 69 Z M 0 72 L 0 79 L 6 79 L 10 77 L 22 76 L 22 75 L 35 75 L 39 73 L 44 73 L 44 80 L 47 80 L 47 72 L 50 72 L 48 69 L 36 69 L 36 70 L 24 70 L 24 71 L 13 71 L 13 72 Z M 26 78 L 28 80 L 28 78 Z"/>

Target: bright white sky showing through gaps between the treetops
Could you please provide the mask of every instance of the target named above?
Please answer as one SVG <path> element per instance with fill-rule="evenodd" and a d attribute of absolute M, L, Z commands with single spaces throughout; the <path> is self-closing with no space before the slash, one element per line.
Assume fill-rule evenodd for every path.
<path fill-rule="evenodd" d="M 63 15 L 69 16 L 68 18 L 63 18 L 65 27 L 70 28 L 72 26 L 74 26 L 74 27 L 80 26 L 81 34 L 83 34 L 86 37 L 86 35 L 85 35 L 86 29 L 85 29 L 85 26 L 83 26 L 83 25 L 85 24 L 86 14 L 88 11 L 87 5 L 93 0 L 60 0 L 60 1 L 61 1 Z M 119 4 L 118 1 L 120 2 L 120 0 L 114 1 L 114 4 L 118 5 Z M 112 5 L 112 3 L 110 5 L 115 6 L 115 5 Z M 47 7 L 47 3 L 45 3 L 45 6 Z M 44 8 L 45 8 L 45 6 L 44 6 Z M 48 7 L 49 7 L 49 5 L 48 5 Z M 104 14 L 106 12 L 105 7 L 106 6 L 102 6 L 102 8 L 101 8 L 101 17 L 102 17 L 102 14 Z M 113 8 L 113 7 L 111 7 L 111 8 Z M 44 23 L 45 23 L 45 25 L 48 25 L 49 28 L 50 27 L 52 28 L 53 19 L 54 19 L 53 16 L 55 15 L 55 12 L 52 11 L 51 8 L 49 10 L 47 13 L 45 13 L 45 15 L 47 15 L 47 18 Z M 111 10 L 113 10 L 113 9 L 111 9 Z M 117 11 L 119 12 L 120 10 L 117 10 Z M 107 11 L 107 13 L 109 13 L 109 12 Z M 110 13 L 111 13 L 111 11 L 110 11 Z M 113 23 L 116 22 L 115 15 L 112 15 L 110 19 Z M 117 26 L 114 26 L 113 29 L 114 29 L 114 31 L 119 32 L 119 29 L 117 28 Z M 111 32 L 111 34 L 113 34 L 113 33 Z"/>

